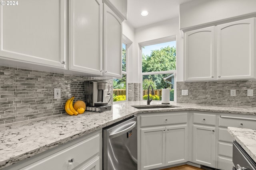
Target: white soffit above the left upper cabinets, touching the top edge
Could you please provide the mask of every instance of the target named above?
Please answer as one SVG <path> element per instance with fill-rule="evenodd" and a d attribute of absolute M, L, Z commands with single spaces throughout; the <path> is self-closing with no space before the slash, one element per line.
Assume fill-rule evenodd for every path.
<path fill-rule="evenodd" d="M 103 0 L 122 20 L 127 20 L 127 0 Z"/>

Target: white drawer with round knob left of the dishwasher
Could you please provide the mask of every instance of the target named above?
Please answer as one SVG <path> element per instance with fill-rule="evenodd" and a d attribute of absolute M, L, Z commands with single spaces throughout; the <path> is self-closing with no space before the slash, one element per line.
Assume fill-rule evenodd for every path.
<path fill-rule="evenodd" d="M 21 170 L 71 170 L 82 164 L 100 150 L 100 135 L 97 134 L 71 147 L 56 152 Z M 72 161 L 70 161 L 72 159 Z"/>

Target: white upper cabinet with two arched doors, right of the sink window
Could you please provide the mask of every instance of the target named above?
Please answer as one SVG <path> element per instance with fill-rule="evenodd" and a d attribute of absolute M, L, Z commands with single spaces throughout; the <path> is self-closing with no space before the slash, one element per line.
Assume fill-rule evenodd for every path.
<path fill-rule="evenodd" d="M 255 19 L 185 33 L 184 80 L 255 77 Z"/>

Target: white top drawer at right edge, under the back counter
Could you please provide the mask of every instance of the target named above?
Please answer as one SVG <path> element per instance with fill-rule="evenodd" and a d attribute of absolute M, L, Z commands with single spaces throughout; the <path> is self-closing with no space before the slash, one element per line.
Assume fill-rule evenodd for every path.
<path fill-rule="evenodd" d="M 249 118 L 250 119 L 250 118 Z M 243 117 L 219 117 L 219 126 L 222 127 L 239 127 L 239 128 L 247 128 L 247 129 L 256 129 L 256 119 L 248 120 L 248 118 Z"/>

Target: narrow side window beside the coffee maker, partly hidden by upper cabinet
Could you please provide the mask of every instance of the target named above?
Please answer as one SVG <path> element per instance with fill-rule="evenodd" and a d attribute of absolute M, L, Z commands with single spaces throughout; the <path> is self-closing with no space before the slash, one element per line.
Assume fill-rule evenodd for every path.
<path fill-rule="evenodd" d="M 122 43 L 122 78 L 113 80 L 113 102 L 126 100 L 127 45 Z"/>

